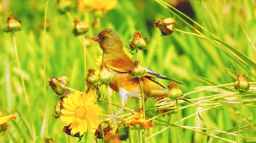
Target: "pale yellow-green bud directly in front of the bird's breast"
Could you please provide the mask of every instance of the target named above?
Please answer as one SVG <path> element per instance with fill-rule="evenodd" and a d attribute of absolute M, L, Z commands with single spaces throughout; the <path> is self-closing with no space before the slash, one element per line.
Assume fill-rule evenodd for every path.
<path fill-rule="evenodd" d="M 114 82 L 115 76 L 111 72 L 109 72 L 105 67 L 101 69 L 99 72 L 99 79 L 103 84 L 109 84 L 111 82 Z"/>

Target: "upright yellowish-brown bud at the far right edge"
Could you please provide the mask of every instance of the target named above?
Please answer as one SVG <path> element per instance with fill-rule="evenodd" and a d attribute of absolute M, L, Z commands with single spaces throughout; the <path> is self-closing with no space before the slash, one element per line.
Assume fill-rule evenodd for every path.
<path fill-rule="evenodd" d="M 238 80 L 234 83 L 235 89 L 239 92 L 248 91 L 250 89 L 248 78 L 244 74 L 238 74 L 237 78 Z"/>

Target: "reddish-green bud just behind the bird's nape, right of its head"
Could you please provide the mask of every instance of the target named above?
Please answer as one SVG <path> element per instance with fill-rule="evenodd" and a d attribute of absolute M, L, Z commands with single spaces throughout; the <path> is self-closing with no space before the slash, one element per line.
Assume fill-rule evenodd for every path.
<path fill-rule="evenodd" d="M 133 33 L 133 38 L 130 39 L 129 47 L 131 48 L 131 50 L 142 50 L 146 48 L 147 44 L 148 40 L 146 39 L 146 37 L 144 37 L 142 33 L 136 31 L 135 33 Z"/>

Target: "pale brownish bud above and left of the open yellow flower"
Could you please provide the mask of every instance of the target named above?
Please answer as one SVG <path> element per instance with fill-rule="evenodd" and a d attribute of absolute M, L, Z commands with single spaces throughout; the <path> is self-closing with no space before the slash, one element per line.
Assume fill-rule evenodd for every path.
<path fill-rule="evenodd" d="M 55 78 L 54 76 L 52 78 L 48 79 L 49 86 L 51 86 L 51 89 L 57 94 L 57 95 L 63 95 L 65 91 L 68 89 L 68 82 L 69 79 L 66 76 L 62 76 L 60 78 Z"/>

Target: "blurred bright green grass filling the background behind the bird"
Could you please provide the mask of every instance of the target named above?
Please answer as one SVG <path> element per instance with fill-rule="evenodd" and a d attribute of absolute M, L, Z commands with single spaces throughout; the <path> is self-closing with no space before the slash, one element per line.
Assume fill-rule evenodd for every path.
<path fill-rule="evenodd" d="M 73 17 L 77 16 L 85 20 L 90 25 L 90 31 L 86 36 L 92 37 L 105 28 L 114 29 L 127 45 L 132 33 L 140 31 L 149 40 L 149 46 L 146 50 L 140 51 L 140 63 L 149 69 L 153 69 L 160 74 L 164 74 L 179 82 L 184 86 L 179 86 L 183 93 L 194 91 L 196 87 L 227 84 L 235 82 L 235 72 L 244 73 L 249 81 L 255 82 L 255 66 L 248 64 L 240 54 L 234 54 L 224 44 L 217 46 L 212 44 L 209 39 L 196 37 L 188 33 L 179 31 L 170 36 L 161 36 L 159 29 L 153 25 L 154 19 L 174 16 L 170 9 L 159 5 L 157 1 L 118 1 L 114 10 L 101 16 L 97 27 L 92 27 L 91 23 L 95 14 L 84 14 L 72 10 L 66 14 L 60 14 L 57 11 L 56 1 L 49 1 L 47 9 L 47 18 L 51 22 L 50 30 L 44 33 L 40 28 L 40 23 L 44 17 L 46 1 L 1 1 L 4 4 L 3 11 L 0 14 L 1 27 L 4 27 L 5 20 L 12 13 L 16 18 L 22 21 L 22 29 L 14 33 L 18 48 L 18 56 L 21 62 L 21 69 L 25 79 L 25 87 L 29 98 L 29 104 L 26 103 L 25 93 L 22 88 L 20 72 L 16 63 L 14 54 L 14 44 L 11 33 L 0 32 L 0 110 L 3 115 L 18 113 L 16 121 L 8 123 L 8 131 L 1 133 L 1 142 L 44 142 L 45 138 L 53 138 L 55 142 L 66 142 L 66 136 L 62 132 L 62 123 L 60 119 L 53 118 L 55 93 L 50 86 L 45 86 L 47 78 L 55 76 L 68 76 L 69 86 L 80 91 L 86 89 L 84 77 L 84 49 L 81 37 L 75 37 L 71 32 L 73 29 Z M 207 31 L 203 31 L 198 25 L 190 22 L 192 27 L 201 31 L 207 37 L 214 39 L 213 33 L 225 44 L 233 46 L 235 49 L 244 53 L 248 59 L 255 61 L 256 50 L 248 42 L 256 42 L 256 3 L 255 1 L 190 1 L 194 10 L 193 19 Z M 177 14 L 177 12 L 176 12 Z M 182 31 L 194 32 L 182 20 L 177 20 L 177 29 Z M 242 30 L 244 27 L 244 31 Z M 211 32 L 211 33 L 209 33 Z M 44 55 L 45 48 L 45 55 Z M 94 63 L 101 49 L 96 42 L 90 40 L 90 46 L 87 47 L 87 68 L 99 69 Z M 44 63 L 45 56 L 45 63 Z M 242 60 L 240 60 L 242 59 Z M 44 73 L 44 64 L 46 72 Z M 198 80 L 190 75 L 197 75 L 207 78 L 212 82 L 200 78 Z M 157 80 L 164 86 L 168 81 Z M 251 84 L 253 87 L 253 84 Z M 232 89 L 232 86 L 229 86 Z M 255 89 L 254 89 L 255 90 Z M 103 93 L 103 99 L 107 99 L 105 87 L 100 88 Z M 45 92 L 45 93 L 44 93 Z M 216 92 L 203 91 L 188 95 L 191 99 L 216 95 Z M 254 96 L 253 96 L 254 95 Z M 256 138 L 255 127 L 255 91 L 251 89 L 244 96 L 244 101 L 248 104 L 240 104 L 240 94 L 235 93 L 238 99 L 212 99 L 205 106 L 192 106 L 180 110 L 181 118 L 196 114 L 197 112 L 210 108 L 199 115 L 191 116 L 181 125 L 182 138 L 184 142 L 233 142 L 238 141 L 237 136 L 228 136 L 229 133 L 238 133 L 246 138 L 240 138 L 239 142 L 252 142 Z M 210 98 L 211 99 L 211 98 Z M 115 94 L 112 101 L 120 104 L 120 97 Z M 233 102 L 232 102 L 233 101 Z M 156 101 L 148 99 L 146 107 L 155 104 Z M 212 105 L 213 104 L 213 105 Z M 214 105 L 221 104 L 218 107 Z M 110 105 L 99 103 L 104 114 L 110 114 L 107 110 Z M 181 106 L 190 104 L 183 103 Z M 139 108 L 139 101 L 129 99 L 127 107 L 133 110 Z M 119 108 L 116 108 L 118 110 Z M 29 115 L 31 110 L 31 117 Z M 157 115 L 153 110 L 154 116 Z M 168 121 L 168 116 L 161 120 Z M 170 123 L 178 121 L 177 114 L 172 114 Z M 159 121 L 153 121 L 153 128 L 146 131 L 146 137 L 157 133 L 166 127 L 166 124 Z M 241 124 L 240 124 L 241 123 Z M 239 125 L 241 129 L 239 129 Z M 203 133 L 192 131 L 192 127 L 204 127 Z M 194 128 L 193 128 L 194 129 Z M 219 133 L 216 130 L 227 131 Z M 211 137 L 216 135 L 219 138 Z M 87 138 L 81 142 L 95 142 L 93 133 L 89 133 Z M 140 140 L 138 131 L 130 131 L 131 140 L 127 142 L 138 142 Z M 251 140 L 249 140 L 251 139 Z M 72 138 L 72 142 L 78 142 L 79 139 Z M 170 127 L 148 142 L 179 142 L 179 127 Z M 101 142 L 101 140 L 99 140 Z"/>

